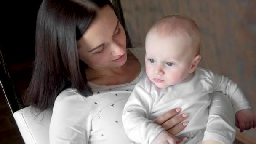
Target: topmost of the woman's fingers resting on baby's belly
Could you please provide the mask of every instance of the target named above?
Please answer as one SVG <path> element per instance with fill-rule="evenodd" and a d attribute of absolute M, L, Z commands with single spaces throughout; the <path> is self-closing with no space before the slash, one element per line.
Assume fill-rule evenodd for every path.
<path fill-rule="evenodd" d="M 172 117 L 177 115 L 179 112 L 181 112 L 181 108 L 172 109 L 168 112 L 165 112 L 163 115 L 160 115 L 160 117 L 158 117 L 154 121 L 154 123 L 156 123 L 157 125 L 162 125 L 163 123 L 165 123 L 165 121 L 171 119 Z"/>

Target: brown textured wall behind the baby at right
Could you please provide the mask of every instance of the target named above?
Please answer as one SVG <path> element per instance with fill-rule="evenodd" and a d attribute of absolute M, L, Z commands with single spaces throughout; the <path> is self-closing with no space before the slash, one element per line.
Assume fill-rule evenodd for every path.
<path fill-rule="evenodd" d="M 192 18 L 202 32 L 200 67 L 234 80 L 256 112 L 256 0 L 121 0 L 132 43 L 170 14 Z M 255 138 L 256 130 L 243 132 Z"/>

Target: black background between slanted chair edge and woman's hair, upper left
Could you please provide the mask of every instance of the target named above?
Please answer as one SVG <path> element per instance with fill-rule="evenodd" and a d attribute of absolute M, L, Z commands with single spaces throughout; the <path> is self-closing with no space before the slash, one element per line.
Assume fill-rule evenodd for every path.
<path fill-rule="evenodd" d="M 42 0 L 0 2 L 0 48 L 21 96 L 29 85 L 32 74 L 35 26 L 41 2 Z"/>

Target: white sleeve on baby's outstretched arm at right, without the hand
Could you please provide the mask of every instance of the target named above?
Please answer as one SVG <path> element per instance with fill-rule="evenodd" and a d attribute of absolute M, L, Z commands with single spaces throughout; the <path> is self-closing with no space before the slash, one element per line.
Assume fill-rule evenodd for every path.
<path fill-rule="evenodd" d="M 224 93 L 231 101 L 235 113 L 242 109 L 251 109 L 248 100 L 235 82 L 211 71 L 208 71 L 208 75 L 213 82 L 213 91 Z"/>

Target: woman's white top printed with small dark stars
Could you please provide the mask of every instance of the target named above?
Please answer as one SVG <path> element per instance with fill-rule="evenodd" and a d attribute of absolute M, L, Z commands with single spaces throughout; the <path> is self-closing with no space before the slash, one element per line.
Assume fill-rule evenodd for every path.
<path fill-rule="evenodd" d="M 57 97 L 50 124 L 50 144 L 131 144 L 122 124 L 123 107 L 135 85 L 144 77 L 144 48 L 133 48 L 141 63 L 135 80 L 122 85 L 88 83 L 93 96 L 81 96 L 75 89 Z"/>

